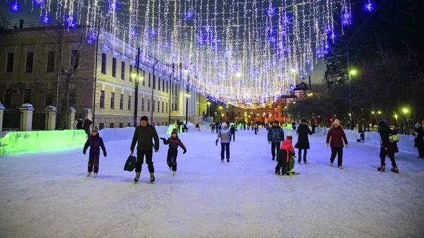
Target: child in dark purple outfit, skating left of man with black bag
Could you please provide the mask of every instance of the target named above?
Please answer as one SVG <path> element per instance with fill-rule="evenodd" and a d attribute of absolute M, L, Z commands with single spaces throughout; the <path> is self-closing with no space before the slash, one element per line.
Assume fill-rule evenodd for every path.
<path fill-rule="evenodd" d="M 94 172 L 93 177 L 97 177 L 99 172 L 99 160 L 100 160 L 100 148 L 103 150 L 103 155 L 106 157 L 106 148 L 103 139 L 98 134 L 97 127 L 93 126 L 91 130 L 91 135 L 86 141 L 86 145 L 83 148 L 83 154 L 86 155 L 86 151 L 90 147 L 90 152 L 88 153 L 88 172 L 87 177 L 90 176 L 91 172 Z"/>

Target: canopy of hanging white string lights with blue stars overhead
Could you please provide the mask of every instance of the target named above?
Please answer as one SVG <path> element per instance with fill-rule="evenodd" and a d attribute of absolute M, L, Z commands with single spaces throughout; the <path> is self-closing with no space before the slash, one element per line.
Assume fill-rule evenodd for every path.
<path fill-rule="evenodd" d="M 84 19 L 102 28 L 99 39 L 96 30 L 86 30 L 89 44 L 99 40 L 131 60 L 141 47 L 141 64 L 153 66 L 154 58 L 175 64 L 175 78 L 190 90 L 245 108 L 264 107 L 293 90 L 330 52 L 336 32 L 343 34 L 334 20 L 352 23 L 350 0 L 28 2 L 40 4 L 42 23 L 52 16 L 73 28 Z"/>

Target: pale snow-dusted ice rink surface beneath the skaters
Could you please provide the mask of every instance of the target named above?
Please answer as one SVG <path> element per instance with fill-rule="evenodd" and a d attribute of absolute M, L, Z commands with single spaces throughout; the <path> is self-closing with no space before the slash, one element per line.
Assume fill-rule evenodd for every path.
<path fill-rule="evenodd" d="M 287 132 L 286 132 L 287 134 Z M 173 177 L 167 147 L 153 155 L 155 184 L 123 171 L 131 141 L 106 143 L 96 179 L 82 148 L 0 158 L 0 237 L 424 237 L 424 160 L 398 153 L 400 174 L 377 172 L 377 147 L 350 141 L 344 169 L 329 167 L 311 136 L 300 175 L 273 173 L 266 131 L 239 131 L 230 163 L 216 134 L 179 135 Z M 297 141 L 294 136 L 293 141 Z"/>

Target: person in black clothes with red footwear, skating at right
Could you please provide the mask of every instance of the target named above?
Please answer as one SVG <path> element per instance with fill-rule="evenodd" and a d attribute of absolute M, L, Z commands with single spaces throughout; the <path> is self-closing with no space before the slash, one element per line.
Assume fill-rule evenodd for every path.
<path fill-rule="evenodd" d="M 379 172 L 384 172 L 386 170 L 386 156 L 389 155 L 392 168 L 391 172 L 399 173 L 399 169 L 396 166 L 396 160 L 394 160 L 394 153 L 398 153 L 399 149 L 396 142 L 391 140 L 391 135 L 396 135 L 396 131 L 393 131 L 389 128 L 389 125 L 386 121 L 377 122 L 378 133 L 381 138 L 380 145 L 380 162 L 381 166 L 377 168 Z"/>

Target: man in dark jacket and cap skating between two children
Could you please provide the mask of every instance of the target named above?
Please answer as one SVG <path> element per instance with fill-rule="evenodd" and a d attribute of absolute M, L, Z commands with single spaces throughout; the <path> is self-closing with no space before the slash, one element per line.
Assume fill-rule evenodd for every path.
<path fill-rule="evenodd" d="M 152 139 L 155 139 L 153 144 Z M 136 127 L 134 131 L 134 137 L 131 143 L 131 153 L 134 153 L 134 148 L 137 145 L 137 163 L 136 163 L 136 177 L 134 182 L 139 182 L 141 174 L 141 165 L 143 165 L 144 155 L 146 155 L 146 164 L 148 172 L 151 174 L 151 182 L 155 182 L 155 168 L 153 167 L 153 147 L 155 152 L 159 151 L 159 136 L 156 132 L 155 126 L 148 124 L 148 118 L 146 116 L 141 117 L 140 125 Z"/>

